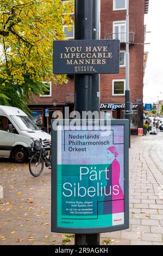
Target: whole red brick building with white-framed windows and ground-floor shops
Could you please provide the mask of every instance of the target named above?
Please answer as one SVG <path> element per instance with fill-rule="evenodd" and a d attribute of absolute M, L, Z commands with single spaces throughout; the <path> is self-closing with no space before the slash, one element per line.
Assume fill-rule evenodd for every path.
<path fill-rule="evenodd" d="M 126 0 L 101 0 L 101 39 L 120 39 L 120 73 L 101 75 L 101 111 L 105 116 L 124 118 L 125 83 L 126 83 Z M 129 53 L 130 53 L 130 93 L 133 103 L 131 114 L 131 133 L 137 134 L 143 125 L 143 74 L 145 72 L 144 41 L 146 27 L 144 16 L 148 13 L 149 0 L 129 0 Z M 64 27 L 67 38 L 74 38 Z M 49 94 L 35 96 L 35 102 L 29 105 L 32 113 L 42 114 L 42 125 L 46 126 L 45 108 L 49 108 L 50 116 L 55 110 L 64 113 L 64 107 L 74 107 L 73 76 L 68 77 L 68 84 L 51 85 Z"/>

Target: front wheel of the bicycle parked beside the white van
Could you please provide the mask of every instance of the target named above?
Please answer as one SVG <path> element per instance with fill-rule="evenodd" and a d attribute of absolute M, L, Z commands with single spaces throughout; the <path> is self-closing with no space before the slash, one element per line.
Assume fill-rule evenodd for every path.
<path fill-rule="evenodd" d="M 39 161 L 40 155 L 33 155 L 29 161 L 29 171 L 34 176 L 37 177 L 42 173 L 43 170 L 43 159 Z"/>

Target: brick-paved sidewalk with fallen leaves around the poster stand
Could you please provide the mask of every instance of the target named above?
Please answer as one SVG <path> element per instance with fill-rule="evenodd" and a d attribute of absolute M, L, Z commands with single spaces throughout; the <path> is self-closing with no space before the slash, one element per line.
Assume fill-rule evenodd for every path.
<path fill-rule="evenodd" d="M 101 244 L 163 245 L 163 132 L 131 137 L 130 228 L 101 234 Z M 30 175 L 28 164 L 0 160 L 0 245 L 73 245 L 51 233 L 51 171 Z"/>

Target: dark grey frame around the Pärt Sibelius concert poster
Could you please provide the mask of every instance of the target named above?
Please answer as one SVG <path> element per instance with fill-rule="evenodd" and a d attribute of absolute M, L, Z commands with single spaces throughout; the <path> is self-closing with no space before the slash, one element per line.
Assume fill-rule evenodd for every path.
<path fill-rule="evenodd" d="M 71 121 L 71 119 L 69 120 Z M 82 120 L 81 120 L 82 122 Z M 65 120 L 63 120 L 65 123 Z M 82 123 L 81 123 L 82 124 Z M 105 121 L 106 124 L 106 121 Z M 67 121 L 66 121 L 67 125 Z M 129 125 L 127 119 L 111 120 L 111 126 L 124 126 L 124 224 L 101 228 L 62 228 L 57 226 L 57 144 L 58 131 L 52 129 L 51 231 L 56 233 L 96 234 L 129 228 Z"/>

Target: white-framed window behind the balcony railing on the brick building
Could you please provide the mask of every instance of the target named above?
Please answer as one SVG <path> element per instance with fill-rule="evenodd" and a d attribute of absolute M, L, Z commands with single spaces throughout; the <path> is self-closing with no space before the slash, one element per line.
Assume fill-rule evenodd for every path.
<path fill-rule="evenodd" d="M 126 42 L 126 21 L 113 22 L 113 39 L 119 39 Z"/>

